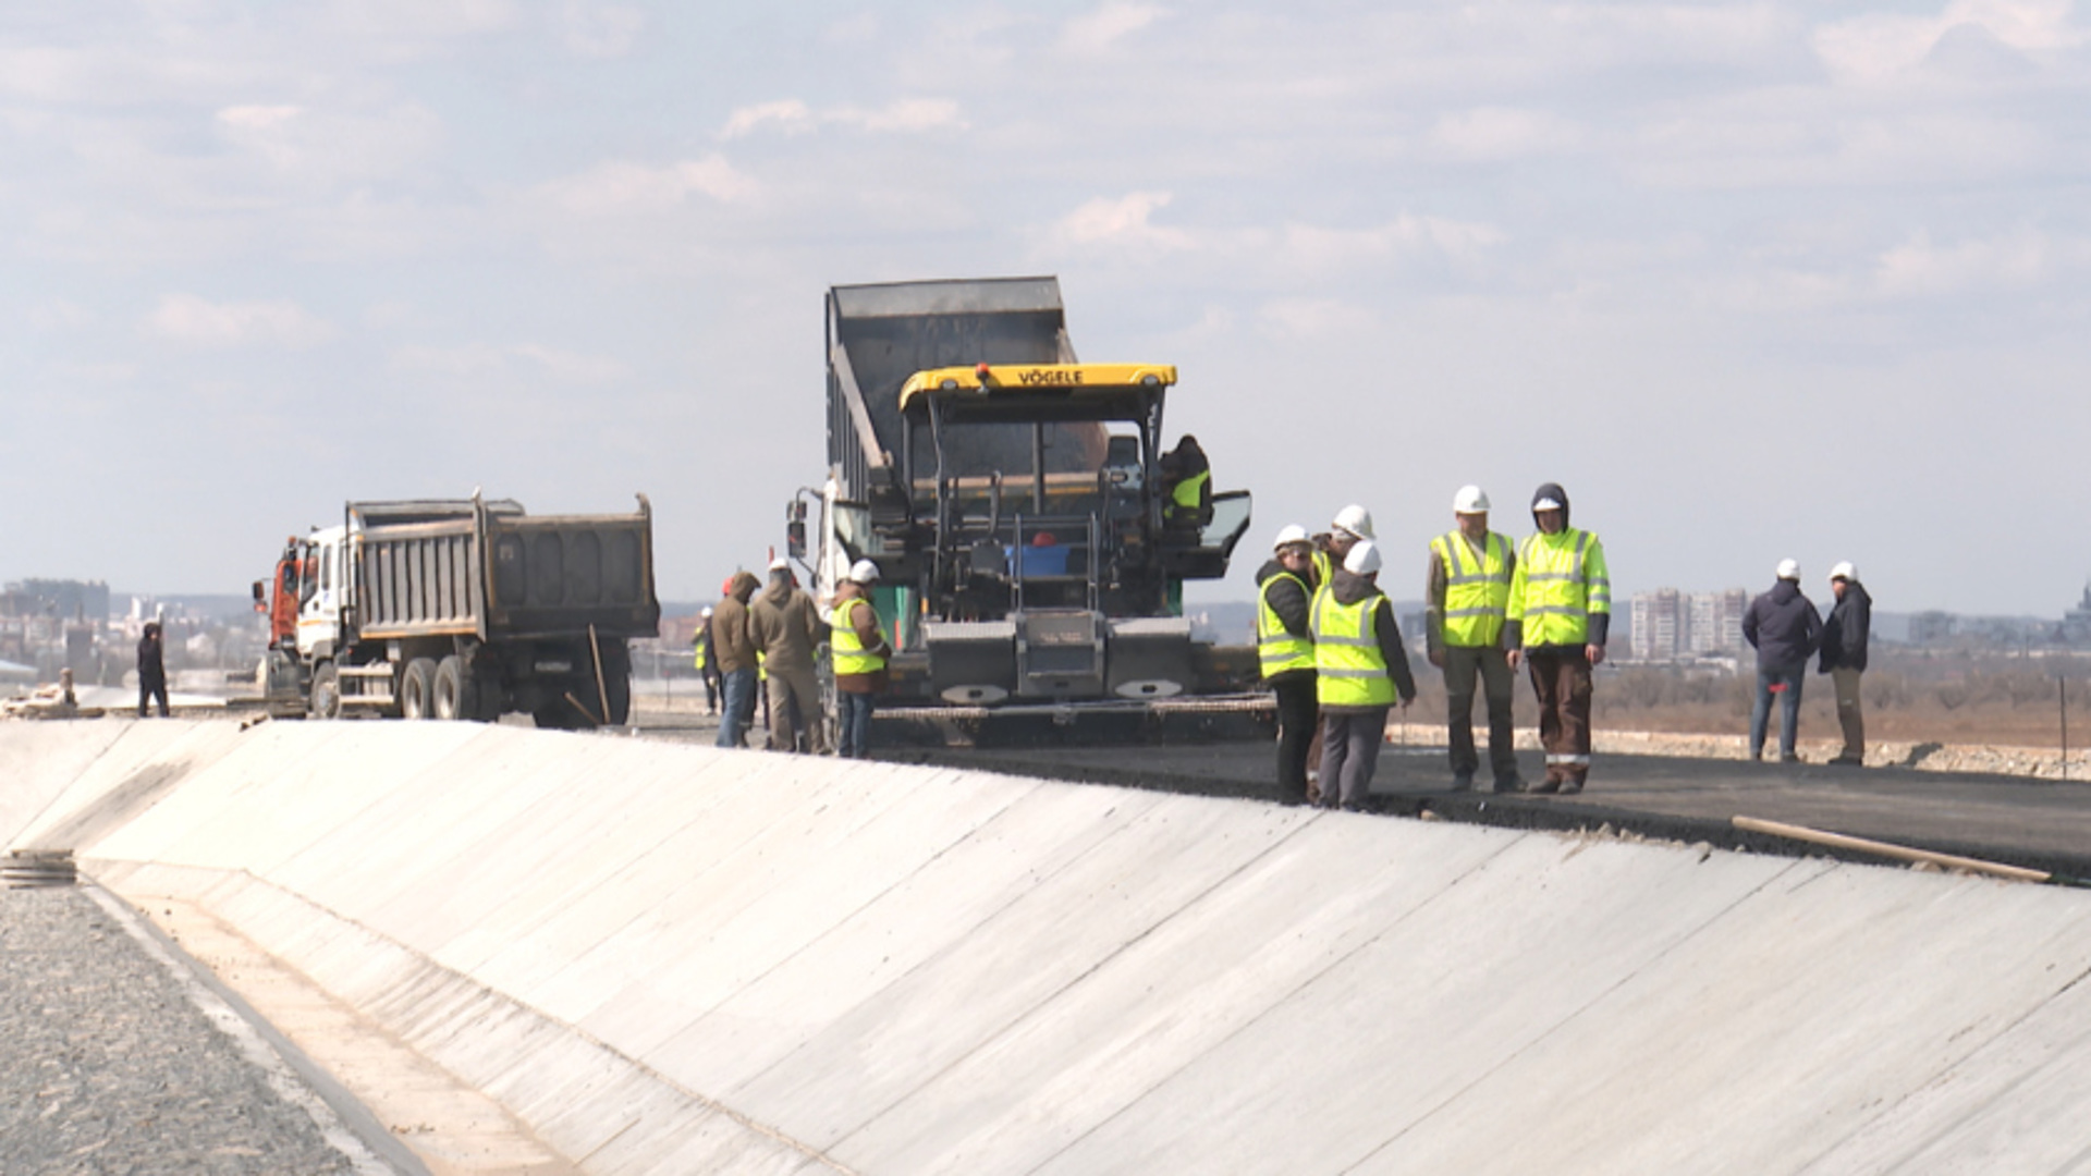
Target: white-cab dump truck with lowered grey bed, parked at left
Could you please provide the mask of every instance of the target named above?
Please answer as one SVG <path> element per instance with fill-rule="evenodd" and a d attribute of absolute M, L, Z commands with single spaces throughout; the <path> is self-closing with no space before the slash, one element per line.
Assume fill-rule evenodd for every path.
<path fill-rule="evenodd" d="M 270 584 L 259 678 L 274 714 L 623 724 L 629 640 L 654 636 L 652 506 L 529 515 L 519 502 L 349 502 L 293 538 Z"/>

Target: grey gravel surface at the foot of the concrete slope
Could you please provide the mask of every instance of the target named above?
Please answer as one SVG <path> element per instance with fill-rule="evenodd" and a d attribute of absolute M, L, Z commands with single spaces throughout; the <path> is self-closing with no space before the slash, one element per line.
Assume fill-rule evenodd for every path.
<path fill-rule="evenodd" d="M 0 889 L 0 1172 L 355 1172 L 82 889 Z"/>

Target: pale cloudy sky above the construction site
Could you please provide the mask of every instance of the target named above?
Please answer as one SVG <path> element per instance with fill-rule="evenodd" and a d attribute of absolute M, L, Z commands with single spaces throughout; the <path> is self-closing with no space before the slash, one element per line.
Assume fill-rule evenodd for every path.
<path fill-rule="evenodd" d="M 345 498 L 824 475 L 822 293 L 1058 274 L 1278 525 L 1558 479 L 1616 588 L 2091 575 L 2091 17 L 2049 0 L 0 10 L 0 578 L 238 592 Z M 1246 598 L 1257 559 L 1194 598 Z M 1418 588 L 1403 588 L 1416 580 Z"/>

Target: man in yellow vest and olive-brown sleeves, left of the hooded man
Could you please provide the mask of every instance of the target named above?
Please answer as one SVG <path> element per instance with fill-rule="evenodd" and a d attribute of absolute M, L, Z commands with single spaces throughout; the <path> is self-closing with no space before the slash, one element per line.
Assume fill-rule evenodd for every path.
<path fill-rule="evenodd" d="M 1445 672 L 1445 732 L 1451 747 L 1451 791 L 1474 787 L 1480 755 L 1474 749 L 1474 684 L 1489 705 L 1489 770 L 1495 791 L 1514 793 L 1518 778 L 1516 728 L 1510 720 L 1514 678 L 1503 655 L 1503 615 L 1516 548 L 1489 529 L 1489 496 L 1462 485 L 1451 498 L 1457 527 L 1430 540 L 1424 573 L 1424 644 L 1430 665 Z"/>

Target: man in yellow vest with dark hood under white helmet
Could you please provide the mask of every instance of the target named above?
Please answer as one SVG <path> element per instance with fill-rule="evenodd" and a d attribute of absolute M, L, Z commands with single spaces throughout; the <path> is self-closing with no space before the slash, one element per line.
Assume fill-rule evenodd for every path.
<path fill-rule="evenodd" d="M 1612 624 L 1612 573 L 1604 544 L 1568 525 L 1568 492 L 1543 483 L 1533 494 L 1533 525 L 1518 548 L 1503 613 L 1510 668 L 1522 659 L 1539 697 L 1539 745 L 1547 778 L 1535 793 L 1579 793 L 1589 778 L 1591 668 L 1604 661 Z"/>

